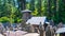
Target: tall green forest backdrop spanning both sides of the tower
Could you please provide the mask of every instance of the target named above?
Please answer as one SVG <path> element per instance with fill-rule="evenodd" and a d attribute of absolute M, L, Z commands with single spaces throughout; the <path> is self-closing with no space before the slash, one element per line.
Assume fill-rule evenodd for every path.
<path fill-rule="evenodd" d="M 53 19 L 55 23 L 60 21 L 65 23 L 64 0 L 30 0 L 26 4 L 25 0 L 17 0 L 17 3 L 20 2 L 17 8 L 14 0 L 0 0 L 0 22 L 21 22 L 23 20 L 21 10 L 27 8 L 32 11 L 31 15 L 34 16 L 47 16 L 49 19 Z M 48 5 L 49 3 L 50 5 Z"/>

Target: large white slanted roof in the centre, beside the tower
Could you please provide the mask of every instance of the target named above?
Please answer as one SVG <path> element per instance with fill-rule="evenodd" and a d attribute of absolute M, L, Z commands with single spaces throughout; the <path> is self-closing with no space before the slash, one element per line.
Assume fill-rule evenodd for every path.
<path fill-rule="evenodd" d="M 27 20 L 26 24 L 30 23 L 30 24 L 44 24 L 47 17 L 31 17 L 29 20 Z"/>

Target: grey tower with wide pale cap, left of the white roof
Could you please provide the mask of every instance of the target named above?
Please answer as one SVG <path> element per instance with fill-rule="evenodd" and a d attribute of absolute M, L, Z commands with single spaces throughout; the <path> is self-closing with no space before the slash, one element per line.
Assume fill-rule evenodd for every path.
<path fill-rule="evenodd" d="M 25 26 L 26 21 L 31 18 L 31 14 L 30 14 L 31 11 L 25 10 L 25 11 L 22 11 L 22 13 L 23 13 L 23 17 L 22 17 L 23 22 L 22 22 L 22 25 Z"/>

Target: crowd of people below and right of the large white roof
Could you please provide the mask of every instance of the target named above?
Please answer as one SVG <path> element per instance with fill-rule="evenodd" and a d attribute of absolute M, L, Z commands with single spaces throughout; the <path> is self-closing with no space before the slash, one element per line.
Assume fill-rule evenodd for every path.
<path fill-rule="evenodd" d="M 63 22 L 60 22 L 57 25 L 55 25 L 53 20 L 51 22 L 46 22 L 44 24 L 41 24 L 40 22 L 40 24 L 35 28 L 31 28 L 31 26 L 29 26 L 28 31 L 30 31 L 31 29 L 32 32 L 39 33 L 40 36 L 55 36 L 56 35 L 55 32 L 57 29 L 65 28 Z"/>

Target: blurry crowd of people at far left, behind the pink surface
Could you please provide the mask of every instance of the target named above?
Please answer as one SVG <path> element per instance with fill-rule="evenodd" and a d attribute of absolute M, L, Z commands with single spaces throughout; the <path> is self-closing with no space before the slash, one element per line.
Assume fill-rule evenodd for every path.
<path fill-rule="evenodd" d="M 22 28 L 20 26 L 20 24 L 17 24 L 16 26 L 12 26 L 12 25 L 8 25 L 8 26 L 4 26 L 2 23 L 0 23 L 0 34 L 3 35 L 3 36 L 6 36 L 6 31 L 18 31 L 18 30 L 22 30 Z"/>

